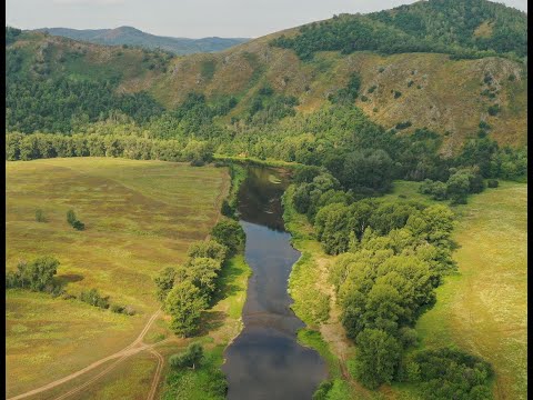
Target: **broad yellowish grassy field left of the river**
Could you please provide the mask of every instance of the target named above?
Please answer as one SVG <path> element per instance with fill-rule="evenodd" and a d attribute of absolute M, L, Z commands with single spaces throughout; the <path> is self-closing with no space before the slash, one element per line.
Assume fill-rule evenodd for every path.
<path fill-rule="evenodd" d="M 137 338 L 159 308 L 153 277 L 179 264 L 189 244 L 205 238 L 219 218 L 229 178 L 227 169 L 108 158 L 7 162 L 6 168 L 7 269 L 50 254 L 61 262 L 58 278 L 69 293 L 97 288 L 112 303 L 137 310 L 127 317 L 78 300 L 9 290 L 6 378 L 11 397 Z M 37 209 L 47 222 L 36 221 Z M 69 209 L 86 223 L 84 231 L 67 223 Z M 151 334 L 157 341 L 162 333 Z M 148 359 L 143 362 L 148 366 Z"/>

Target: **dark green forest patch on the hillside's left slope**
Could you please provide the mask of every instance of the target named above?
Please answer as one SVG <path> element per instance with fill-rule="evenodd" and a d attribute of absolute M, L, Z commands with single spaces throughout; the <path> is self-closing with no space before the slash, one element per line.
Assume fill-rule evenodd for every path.
<path fill-rule="evenodd" d="M 115 113 L 135 122 L 148 122 L 162 107 L 147 92 L 115 92 L 110 81 L 38 79 L 20 70 L 17 51 L 8 51 L 6 76 L 6 122 L 9 131 L 72 132 L 77 121 L 97 122 Z M 19 66 L 19 67 L 16 67 Z M 46 73 L 44 73 L 46 74 Z"/>

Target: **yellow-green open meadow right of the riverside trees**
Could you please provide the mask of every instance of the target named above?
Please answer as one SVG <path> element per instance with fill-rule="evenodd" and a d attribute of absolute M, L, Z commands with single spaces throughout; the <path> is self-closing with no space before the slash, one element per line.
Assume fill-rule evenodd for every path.
<path fill-rule="evenodd" d="M 456 212 L 459 274 L 416 329 L 426 347 L 455 343 L 491 362 L 495 399 L 526 399 L 527 186 L 500 182 Z"/>

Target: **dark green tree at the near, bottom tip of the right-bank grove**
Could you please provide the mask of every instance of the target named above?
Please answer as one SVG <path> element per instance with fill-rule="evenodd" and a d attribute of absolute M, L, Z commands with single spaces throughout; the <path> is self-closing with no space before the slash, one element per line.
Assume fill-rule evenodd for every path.
<path fill-rule="evenodd" d="M 364 329 L 355 342 L 355 378 L 369 389 L 390 383 L 401 358 L 402 349 L 398 340 L 382 330 Z"/>

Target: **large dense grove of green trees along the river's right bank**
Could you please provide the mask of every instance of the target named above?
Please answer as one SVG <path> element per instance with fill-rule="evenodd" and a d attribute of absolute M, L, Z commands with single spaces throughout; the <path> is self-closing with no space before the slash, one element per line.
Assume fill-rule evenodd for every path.
<path fill-rule="evenodd" d="M 358 344 L 353 373 L 366 387 L 398 379 L 414 324 L 455 269 L 452 211 L 441 204 L 359 199 L 320 169 L 295 173 L 292 202 L 329 254 L 341 321 Z"/>

